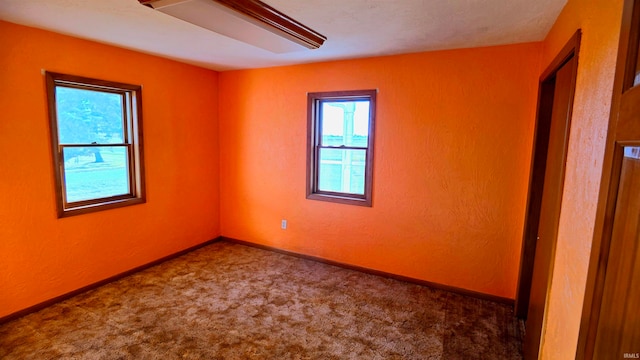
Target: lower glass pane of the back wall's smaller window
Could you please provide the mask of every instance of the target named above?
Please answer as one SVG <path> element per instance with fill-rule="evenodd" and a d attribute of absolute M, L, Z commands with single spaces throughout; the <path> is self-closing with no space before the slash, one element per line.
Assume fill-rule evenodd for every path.
<path fill-rule="evenodd" d="M 364 195 L 365 150 L 320 149 L 318 190 Z"/>

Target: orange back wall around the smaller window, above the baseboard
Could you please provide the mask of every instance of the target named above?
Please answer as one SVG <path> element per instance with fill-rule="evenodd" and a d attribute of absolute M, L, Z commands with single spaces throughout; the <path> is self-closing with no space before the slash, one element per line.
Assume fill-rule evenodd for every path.
<path fill-rule="evenodd" d="M 530 43 L 221 73 L 222 234 L 513 298 L 540 53 Z M 305 199 L 306 93 L 371 88 L 373 207 Z"/>

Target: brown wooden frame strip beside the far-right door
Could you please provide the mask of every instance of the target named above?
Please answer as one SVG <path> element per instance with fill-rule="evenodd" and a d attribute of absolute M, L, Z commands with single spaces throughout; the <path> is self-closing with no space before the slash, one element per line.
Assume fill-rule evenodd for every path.
<path fill-rule="evenodd" d="M 635 2 L 634 0 L 624 0 L 622 6 L 622 25 L 613 83 L 611 112 L 576 349 L 576 359 L 580 360 L 593 358 L 600 309 L 604 296 L 613 220 L 618 197 L 619 170 L 622 165 L 622 157 L 617 154 L 620 151 L 616 145 L 617 120 L 622 94 L 625 89 L 631 88 L 633 84 L 633 76 L 630 76 L 626 70 L 632 64 L 635 65 L 638 56 L 638 49 L 631 47 L 630 44 L 638 44 L 638 41 L 640 41 L 640 26 L 635 29 L 632 27 L 633 24 L 640 22 L 640 1 L 637 1 L 637 6 L 634 9 Z"/>

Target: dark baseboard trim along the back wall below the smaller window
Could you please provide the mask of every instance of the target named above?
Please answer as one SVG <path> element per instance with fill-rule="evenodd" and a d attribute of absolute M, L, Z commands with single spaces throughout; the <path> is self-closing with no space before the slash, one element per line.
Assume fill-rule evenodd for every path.
<path fill-rule="evenodd" d="M 321 257 L 317 257 L 317 256 L 305 255 L 305 254 L 297 253 L 297 252 L 294 252 L 294 251 L 283 250 L 283 249 L 279 249 L 279 248 L 268 246 L 268 245 L 256 244 L 256 243 L 252 243 L 250 241 L 238 240 L 238 239 L 234 239 L 234 238 L 230 238 L 230 237 L 226 237 L 226 236 L 221 236 L 220 238 L 221 238 L 222 241 L 226 241 L 226 242 L 230 242 L 230 243 L 234 243 L 234 244 L 245 245 L 245 246 L 250 246 L 250 247 L 254 247 L 254 248 L 258 248 L 258 249 L 262 249 L 262 250 L 273 251 L 273 252 L 284 254 L 284 255 L 295 256 L 295 257 L 301 258 L 301 259 L 317 261 L 317 262 L 320 262 L 320 263 L 323 263 L 323 264 L 327 264 L 327 265 L 333 265 L 333 266 L 338 266 L 338 267 L 349 269 L 349 270 L 360 271 L 360 272 L 363 272 L 363 273 L 366 273 L 366 274 L 382 276 L 382 277 L 385 277 L 385 278 L 404 281 L 404 282 L 408 282 L 408 283 L 411 283 L 411 284 L 427 286 L 427 287 L 430 287 L 430 288 L 433 288 L 433 289 L 449 291 L 449 292 L 460 294 L 460 295 L 463 295 L 463 296 L 469 296 L 469 297 L 482 299 L 482 300 L 489 300 L 489 301 L 493 301 L 493 302 L 497 302 L 497 303 L 501 303 L 501 304 L 506 304 L 506 305 L 510 305 L 510 306 L 513 306 L 514 303 L 515 303 L 515 300 L 509 299 L 509 298 L 505 298 L 505 297 L 502 297 L 502 296 L 485 294 L 485 293 L 481 293 L 481 292 L 477 292 L 477 291 L 473 291 L 473 290 L 467 290 L 467 289 L 458 288 L 458 287 L 455 287 L 455 286 L 449 286 L 449 285 L 434 283 L 434 282 L 431 282 L 431 281 L 416 279 L 416 278 L 412 278 L 412 277 L 408 277 L 408 276 L 397 275 L 397 274 L 389 273 L 389 272 L 386 272 L 386 271 L 370 269 L 370 268 L 357 266 L 357 265 L 351 265 L 351 264 L 347 264 L 347 263 L 343 263 L 343 262 L 339 262 L 339 261 L 334 261 L 334 260 L 327 260 L 327 259 L 324 259 L 324 258 L 321 258 Z"/>

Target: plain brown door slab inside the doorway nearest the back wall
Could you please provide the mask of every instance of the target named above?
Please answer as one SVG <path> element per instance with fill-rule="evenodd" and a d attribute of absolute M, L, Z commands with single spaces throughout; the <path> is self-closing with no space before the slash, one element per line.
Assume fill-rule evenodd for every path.
<path fill-rule="evenodd" d="M 572 84 L 574 83 L 576 66 L 574 56 L 555 73 L 546 170 L 524 340 L 525 359 L 538 358 L 542 329 L 544 327 L 547 295 L 551 286 L 551 274 L 553 273 L 558 223 L 562 205 L 573 97 Z"/>

